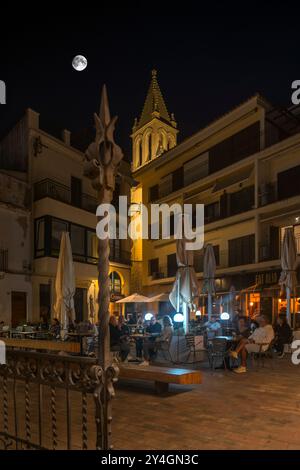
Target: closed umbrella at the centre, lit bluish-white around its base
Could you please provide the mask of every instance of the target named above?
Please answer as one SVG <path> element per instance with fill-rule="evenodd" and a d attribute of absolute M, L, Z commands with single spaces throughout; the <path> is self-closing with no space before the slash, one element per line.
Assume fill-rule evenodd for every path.
<path fill-rule="evenodd" d="M 193 267 L 194 252 L 186 250 L 186 240 L 184 238 L 176 240 L 177 272 L 169 299 L 177 312 L 182 307 L 184 316 L 183 327 L 187 333 L 189 329 L 188 307 L 191 307 L 193 300 L 199 295 L 199 285 Z"/>

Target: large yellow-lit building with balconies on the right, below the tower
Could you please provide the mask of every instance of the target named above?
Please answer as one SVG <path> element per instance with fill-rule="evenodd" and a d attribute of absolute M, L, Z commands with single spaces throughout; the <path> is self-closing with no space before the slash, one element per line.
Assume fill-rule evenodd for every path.
<path fill-rule="evenodd" d="M 204 204 L 205 243 L 213 245 L 217 264 L 217 311 L 227 308 L 230 292 L 250 315 L 257 311 L 276 315 L 285 307 L 278 280 L 287 226 L 294 227 L 300 255 L 297 111 L 276 109 L 256 95 L 151 160 L 133 158 L 133 176 L 139 181 L 132 191 L 133 202 L 148 208 L 151 203 Z M 143 120 L 143 132 L 148 125 L 157 132 L 151 118 L 150 112 L 148 124 Z M 137 131 L 135 125 L 133 148 Z M 132 283 L 139 284 L 135 288 L 146 295 L 169 292 L 177 267 L 175 252 L 174 237 L 136 240 Z M 194 253 L 194 266 L 201 286 L 203 250 Z M 294 311 L 300 311 L 299 297 L 298 286 Z M 205 306 L 204 297 L 198 302 Z"/>

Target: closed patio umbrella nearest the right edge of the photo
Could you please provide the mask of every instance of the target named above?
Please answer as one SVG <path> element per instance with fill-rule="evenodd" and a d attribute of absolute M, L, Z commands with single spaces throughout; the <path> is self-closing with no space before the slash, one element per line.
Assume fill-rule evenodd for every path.
<path fill-rule="evenodd" d="M 292 227 L 285 229 L 281 249 L 281 275 L 279 284 L 286 288 L 286 316 L 291 324 L 291 292 L 295 293 L 297 285 L 297 247 Z"/>

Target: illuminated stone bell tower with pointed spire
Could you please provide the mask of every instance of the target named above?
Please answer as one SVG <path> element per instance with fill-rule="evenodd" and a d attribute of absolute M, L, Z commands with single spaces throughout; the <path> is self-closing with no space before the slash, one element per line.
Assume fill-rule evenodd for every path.
<path fill-rule="evenodd" d="M 132 128 L 133 171 L 175 147 L 177 123 L 174 114 L 169 115 L 158 82 L 157 72 L 152 70 L 152 80 L 140 119 Z"/>

